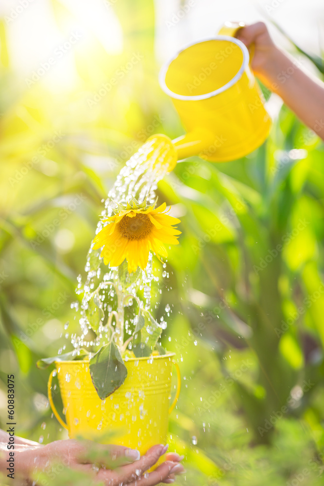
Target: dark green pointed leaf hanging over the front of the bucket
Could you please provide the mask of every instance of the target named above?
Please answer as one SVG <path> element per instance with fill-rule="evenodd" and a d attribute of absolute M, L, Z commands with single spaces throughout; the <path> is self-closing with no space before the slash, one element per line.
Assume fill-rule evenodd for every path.
<path fill-rule="evenodd" d="M 114 342 L 103 346 L 90 359 L 90 374 L 102 400 L 123 384 L 127 376 L 127 369 Z"/>

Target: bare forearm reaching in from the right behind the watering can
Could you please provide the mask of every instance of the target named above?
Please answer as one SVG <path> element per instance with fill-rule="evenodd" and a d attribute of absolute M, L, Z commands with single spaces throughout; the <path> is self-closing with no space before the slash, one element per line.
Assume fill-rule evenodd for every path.
<path fill-rule="evenodd" d="M 276 47 L 256 75 L 303 123 L 324 139 L 324 84 L 321 81 L 306 74 L 296 61 Z"/>

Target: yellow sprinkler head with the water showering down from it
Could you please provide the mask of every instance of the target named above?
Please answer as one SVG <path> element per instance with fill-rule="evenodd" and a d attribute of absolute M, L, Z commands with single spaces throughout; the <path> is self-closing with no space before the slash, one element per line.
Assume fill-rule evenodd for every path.
<path fill-rule="evenodd" d="M 113 215 L 116 203 L 126 205 L 132 197 L 135 197 L 139 204 L 145 199 L 147 204 L 153 204 L 156 199 L 155 191 L 158 182 L 174 167 L 175 163 L 175 149 L 168 137 L 158 135 L 148 139 L 120 170 L 115 184 L 104 201 L 102 219 Z M 102 227 L 103 223 L 100 220 L 96 234 L 102 230 Z M 108 343 L 115 332 L 117 342 L 119 346 L 122 346 L 125 334 L 125 341 L 127 334 L 132 335 L 131 328 L 134 327 L 134 315 L 137 314 L 137 312 L 134 312 L 135 307 L 133 308 L 133 306 L 138 305 L 142 309 L 150 310 L 152 283 L 155 281 L 158 286 L 159 278 L 153 276 L 152 254 L 150 254 L 145 271 L 138 268 L 136 272 L 129 275 L 127 270 L 124 269 L 124 273 L 126 272 L 128 275 L 128 280 L 126 279 L 126 289 L 129 294 L 127 307 L 133 309 L 133 312 L 130 312 L 130 317 L 126 319 L 124 305 L 119 298 L 120 292 L 125 290 L 125 285 L 123 288 L 120 280 L 120 270 L 117 267 L 105 266 L 100 257 L 101 250 L 94 250 L 93 246 L 92 243 L 86 258 L 85 282 L 82 282 L 81 276 L 77 278 L 76 293 L 83 294 L 80 309 L 77 302 L 71 304 L 71 308 L 75 312 L 80 312 L 79 323 L 82 334 L 80 336 L 72 334 L 71 343 L 75 348 L 89 347 L 90 344 L 99 347 Z M 165 268 L 165 263 L 163 267 Z M 167 276 L 165 270 L 162 276 Z M 142 291 L 143 300 L 136 296 L 137 290 Z M 161 289 L 158 289 L 158 293 L 161 294 L 161 292 Z M 116 311 L 113 309 L 116 309 Z M 166 308 L 166 311 L 170 315 L 170 307 Z M 107 314 L 109 317 L 108 321 L 105 322 Z M 120 320 L 122 321 L 122 326 L 118 328 L 115 322 L 117 314 L 119 317 L 121 316 Z M 93 341 L 89 341 L 87 335 L 91 329 L 90 320 L 93 319 L 99 321 L 96 330 L 97 337 Z M 91 324 L 93 323 L 91 322 Z M 166 325 L 167 323 L 162 319 L 162 329 L 165 329 Z M 91 337 L 93 338 L 92 333 Z M 129 349 L 131 349 L 131 343 Z"/>

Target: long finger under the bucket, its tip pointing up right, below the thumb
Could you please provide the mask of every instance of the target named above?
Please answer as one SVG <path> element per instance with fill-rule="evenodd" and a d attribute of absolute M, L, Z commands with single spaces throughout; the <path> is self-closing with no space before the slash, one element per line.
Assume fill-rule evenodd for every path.
<path fill-rule="evenodd" d="M 145 471 L 152 468 L 152 466 L 158 461 L 158 459 L 166 452 L 166 446 L 162 444 L 153 446 L 151 449 L 142 456 L 138 461 L 134 462 L 134 464 L 128 464 L 127 466 L 122 466 L 119 469 L 115 469 L 114 471 L 106 471 L 105 469 L 101 469 L 98 473 L 98 480 L 109 482 L 109 486 L 117 486 L 120 483 L 128 484 L 134 482 L 136 478 L 142 476 Z M 171 466 L 174 466 L 175 463 L 169 462 Z M 171 466 L 169 470 L 171 469 Z"/>

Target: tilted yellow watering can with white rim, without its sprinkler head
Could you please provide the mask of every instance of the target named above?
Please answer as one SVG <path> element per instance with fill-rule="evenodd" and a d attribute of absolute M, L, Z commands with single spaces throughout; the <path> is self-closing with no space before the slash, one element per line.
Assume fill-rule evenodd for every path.
<path fill-rule="evenodd" d="M 177 159 L 235 160 L 259 147 L 271 119 L 249 66 L 249 52 L 227 22 L 214 38 L 190 44 L 161 69 L 159 81 L 187 131 L 172 140 Z M 170 166 L 172 170 L 175 166 Z"/>

